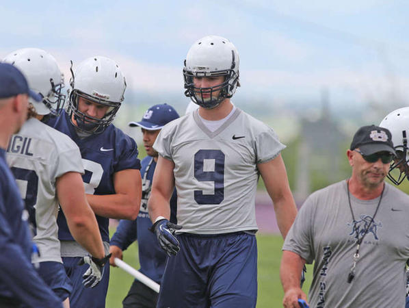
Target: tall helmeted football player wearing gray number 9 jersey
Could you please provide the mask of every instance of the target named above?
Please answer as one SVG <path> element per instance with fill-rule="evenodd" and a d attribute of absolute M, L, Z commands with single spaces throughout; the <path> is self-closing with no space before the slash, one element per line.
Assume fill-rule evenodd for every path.
<path fill-rule="evenodd" d="M 185 94 L 200 107 L 163 127 L 148 209 L 168 257 L 158 307 L 255 307 L 256 185 L 263 177 L 278 227 L 297 208 L 274 130 L 230 102 L 239 86 L 232 42 L 194 42 L 183 68 Z M 179 225 L 169 222 L 176 186 Z M 177 235 L 174 235 L 174 232 Z"/>

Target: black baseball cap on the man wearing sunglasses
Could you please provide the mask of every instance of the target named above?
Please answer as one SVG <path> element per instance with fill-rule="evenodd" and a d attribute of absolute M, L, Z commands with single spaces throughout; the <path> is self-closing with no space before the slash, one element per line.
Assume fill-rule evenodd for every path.
<path fill-rule="evenodd" d="M 363 155 L 382 151 L 396 155 L 391 131 L 375 125 L 362 126 L 356 131 L 349 149 L 352 151 L 356 148 L 359 148 Z"/>

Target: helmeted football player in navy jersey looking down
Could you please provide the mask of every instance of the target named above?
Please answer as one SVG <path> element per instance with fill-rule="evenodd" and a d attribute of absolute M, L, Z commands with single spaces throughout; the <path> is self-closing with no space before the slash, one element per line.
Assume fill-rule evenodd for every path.
<path fill-rule="evenodd" d="M 85 174 L 83 183 L 101 231 L 105 253 L 109 251 L 109 218 L 134 220 L 140 207 L 142 179 L 135 141 L 111 124 L 124 100 L 125 78 L 113 60 L 90 57 L 79 64 L 68 95 L 68 109 L 48 124 L 68 135 L 79 146 Z M 77 266 L 86 251 L 68 229 L 64 213 L 57 218 L 62 259 L 73 284 L 73 307 L 105 307 L 109 264 L 101 283 L 84 288 L 83 266 Z"/>

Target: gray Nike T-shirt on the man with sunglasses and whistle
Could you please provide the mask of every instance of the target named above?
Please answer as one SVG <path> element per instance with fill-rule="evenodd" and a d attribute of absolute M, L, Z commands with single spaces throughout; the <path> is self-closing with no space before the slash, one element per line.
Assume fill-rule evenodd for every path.
<path fill-rule="evenodd" d="M 385 184 L 371 227 L 360 245 L 356 275 L 347 283 L 356 251 L 379 202 L 352 194 L 348 205 L 346 181 L 307 198 L 291 227 L 283 250 L 308 264 L 315 260 L 310 307 L 405 307 L 405 263 L 409 259 L 409 196 Z"/>

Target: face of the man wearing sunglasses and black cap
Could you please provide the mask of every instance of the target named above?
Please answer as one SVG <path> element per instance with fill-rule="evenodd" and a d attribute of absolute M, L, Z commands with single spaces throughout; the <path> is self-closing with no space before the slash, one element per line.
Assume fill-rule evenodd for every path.
<path fill-rule="evenodd" d="M 356 151 L 348 150 L 347 155 L 349 164 L 352 166 L 352 174 L 356 175 L 358 181 L 365 187 L 376 188 L 384 181 L 388 174 L 390 164 L 384 164 L 380 158 L 376 162 L 367 162 L 364 157 Z"/>

